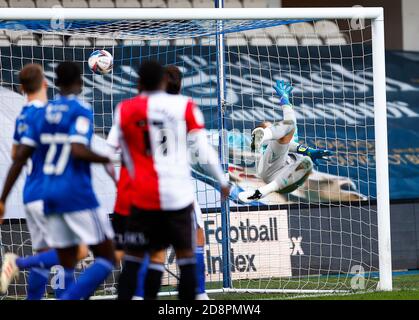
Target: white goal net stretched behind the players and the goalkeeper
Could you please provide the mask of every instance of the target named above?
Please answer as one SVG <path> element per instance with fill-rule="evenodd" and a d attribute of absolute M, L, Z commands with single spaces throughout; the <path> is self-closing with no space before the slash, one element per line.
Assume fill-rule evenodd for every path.
<path fill-rule="evenodd" d="M 336 17 L 352 9 L 341 10 Z M 227 10 L 229 19 L 217 20 L 213 11 L 212 19 L 194 20 L 169 11 L 174 12 L 171 17 L 153 20 L 114 19 L 111 14 L 106 20 L 65 19 L 66 9 L 54 11 L 51 20 L 0 19 L 1 178 L 10 164 L 14 119 L 24 101 L 17 78 L 24 64 L 44 67 L 52 98 L 57 93 L 54 67 L 64 60 L 80 63 L 81 98 L 93 106 L 96 148 L 106 139 L 116 104 L 137 93 L 139 63 L 154 59 L 174 64 L 184 74 L 182 93 L 204 113 L 208 135 L 233 186 L 228 203 L 221 203 L 217 184 L 192 167 L 205 220 L 210 292 L 367 290 L 376 289 L 379 281 L 382 289 L 391 289 L 387 146 L 377 135 L 386 134 L 384 60 L 377 58 L 384 48 L 373 27 L 378 15 L 368 16 L 367 10 L 367 16 L 356 11 L 334 18 L 326 10 L 323 18 L 309 11 L 298 19 L 283 13 L 281 19 L 237 19 Z M 87 60 L 96 49 L 113 55 L 110 74 L 89 70 Z M 264 185 L 255 169 L 258 157 L 250 150 L 251 131 L 262 121 L 282 119 L 273 90 L 277 80 L 294 86 L 295 139 L 335 156 L 315 166 L 297 190 L 244 204 L 239 192 Z M 111 213 L 114 187 L 102 168 L 94 167 L 93 173 L 100 201 Z M 8 251 L 32 254 L 21 186 L 20 181 L 1 226 L 2 256 Z M 84 261 L 79 269 L 88 264 Z M 170 293 L 178 280 L 171 250 L 166 269 L 162 290 Z M 114 295 L 118 274 L 116 268 L 96 295 Z M 6 298 L 25 293 L 22 272 Z"/>

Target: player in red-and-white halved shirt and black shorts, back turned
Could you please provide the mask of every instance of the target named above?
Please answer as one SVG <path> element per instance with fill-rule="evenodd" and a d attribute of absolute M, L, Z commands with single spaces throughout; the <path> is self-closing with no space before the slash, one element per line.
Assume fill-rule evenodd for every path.
<path fill-rule="evenodd" d="M 144 294 L 156 299 L 164 265 L 156 254 L 172 245 L 180 270 L 179 298 L 194 300 L 194 187 L 188 149 L 229 193 L 218 157 L 207 142 L 203 116 L 191 99 L 165 92 L 165 70 L 145 61 L 139 68 L 139 91 L 122 101 L 115 122 L 121 133 L 123 161 L 132 177 L 132 207 L 125 233 L 126 254 L 119 278 L 118 299 L 132 298 L 138 269 L 150 253 Z"/>

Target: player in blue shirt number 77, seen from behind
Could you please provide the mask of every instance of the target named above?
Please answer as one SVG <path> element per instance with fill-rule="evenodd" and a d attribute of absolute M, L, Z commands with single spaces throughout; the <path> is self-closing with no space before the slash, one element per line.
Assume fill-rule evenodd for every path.
<path fill-rule="evenodd" d="M 93 113 L 77 98 L 83 84 L 79 67 L 62 62 L 55 72 L 61 95 L 35 119 L 36 125 L 25 137 L 32 141 L 32 151 L 39 148 L 43 152 L 48 244 L 57 249 L 64 269 L 60 299 L 79 300 L 93 294 L 113 269 L 113 231 L 107 214 L 99 208 L 90 173 L 90 163 L 110 160 L 89 148 Z M 95 262 L 74 282 L 80 244 L 90 247 Z"/>

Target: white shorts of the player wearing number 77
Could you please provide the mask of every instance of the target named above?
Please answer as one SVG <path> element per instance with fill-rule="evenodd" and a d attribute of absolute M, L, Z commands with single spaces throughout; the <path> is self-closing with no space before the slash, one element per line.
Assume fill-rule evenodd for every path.
<path fill-rule="evenodd" d="M 96 245 L 113 239 L 108 215 L 101 209 L 47 215 L 48 241 L 51 248 L 67 248 L 79 244 Z"/>

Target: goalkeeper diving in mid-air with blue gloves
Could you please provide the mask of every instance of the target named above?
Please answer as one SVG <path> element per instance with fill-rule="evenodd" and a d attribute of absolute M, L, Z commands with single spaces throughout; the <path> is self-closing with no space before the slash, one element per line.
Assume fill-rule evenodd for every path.
<path fill-rule="evenodd" d="M 297 119 L 290 103 L 293 87 L 278 80 L 273 87 L 279 96 L 283 120 L 278 123 L 263 122 L 252 132 L 251 150 L 260 155 L 256 170 L 266 183 L 257 190 L 239 193 L 245 203 L 260 200 L 272 192 L 291 193 L 300 187 L 319 160 L 330 161 L 332 151 L 310 148 L 298 143 Z"/>

